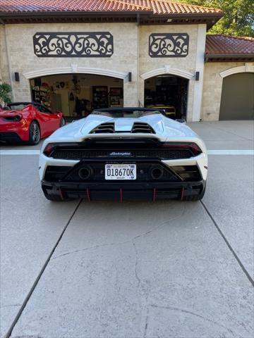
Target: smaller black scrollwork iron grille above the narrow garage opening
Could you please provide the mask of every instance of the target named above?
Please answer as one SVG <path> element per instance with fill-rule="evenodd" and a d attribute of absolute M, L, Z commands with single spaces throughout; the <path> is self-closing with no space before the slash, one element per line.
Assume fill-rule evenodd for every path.
<path fill-rule="evenodd" d="M 149 37 L 151 58 L 184 58 L 188 55 L 186 33 L 153 33 Z"/>

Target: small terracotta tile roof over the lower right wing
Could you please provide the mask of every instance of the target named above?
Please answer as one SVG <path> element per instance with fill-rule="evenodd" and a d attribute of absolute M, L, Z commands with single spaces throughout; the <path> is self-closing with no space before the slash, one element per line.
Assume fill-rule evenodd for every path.
<path fill-rule="evenodd" d="M 205 54 L 238 55 L 254 54 L 254 38 L 229 37 L 226 35 L 207 35 Z"/>

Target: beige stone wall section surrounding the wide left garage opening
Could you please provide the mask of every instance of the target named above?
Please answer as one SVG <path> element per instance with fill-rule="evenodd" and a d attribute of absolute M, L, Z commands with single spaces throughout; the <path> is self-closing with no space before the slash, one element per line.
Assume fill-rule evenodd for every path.
<path fill-rule="evenodd" d="M 34 54 L 32 36 L 36 32 L 111 32 L 114 54 L 110 58 L 38 58 Z M 23 74 L 40 69 L 83 66 L 132 73 L 132 82 L 124 81 L 124 105 L 137 104 L 137 25 L 135 23 L 73 23 L 6 25 L 11 72 L 20 73 L 20 82 L 13 82 L 16 101 L 30 100 L 29 81 Z"/>

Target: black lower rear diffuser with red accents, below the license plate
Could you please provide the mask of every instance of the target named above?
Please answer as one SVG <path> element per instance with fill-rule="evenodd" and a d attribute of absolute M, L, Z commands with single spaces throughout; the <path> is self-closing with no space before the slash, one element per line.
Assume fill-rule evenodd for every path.
<path fill-rule="evenodd" d="M 61 199 L 118 201 L 185 199 L 202 194 L 205 180 L 199 182 L 47 182 L 42 180 L 44 194 Z"/>

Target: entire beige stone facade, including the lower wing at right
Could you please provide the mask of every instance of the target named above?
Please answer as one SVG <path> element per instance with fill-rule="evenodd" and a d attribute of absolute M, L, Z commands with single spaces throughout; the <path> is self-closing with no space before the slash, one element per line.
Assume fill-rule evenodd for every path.
<path fill-rule="evenodd" d="M 36 32 L 110 32 L 114 54 L 109 58 L 39 58 L 32 37 Z M 148 51 L 152 33 L 187 33 L 188 56 L 152 58 Z M 187 120 L 218 120 L 222 93 L 219 73 L 244 63 L 206 63 L 206 25 L 140 25 L 136 23 L 49 23 L 0 25 L 0 78 L 11 83 L 13 101 L 30 101 L 30 79 L 59 73 L 94 73 L 123 79 L 123 105 L 144 103 L 148 77 L 172 74 L 188 79 Z M 7 48 L 6 48 L 7 42 Z M 14 73 L 20 74 L 20 82 Z M 132 80 L 128 82 L 128 73 Z M 199 80 L 195 73 L 199 72 Z"/>

